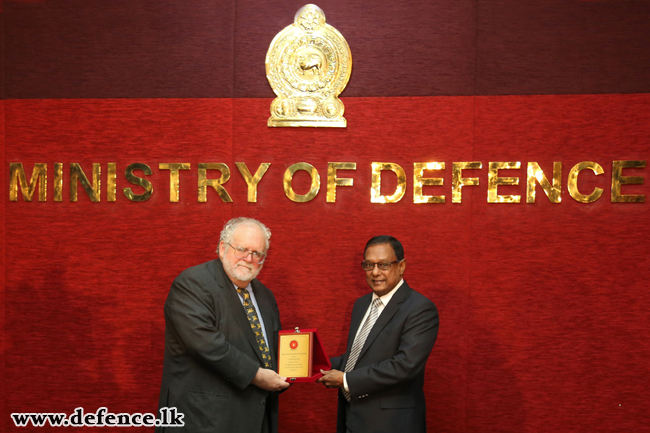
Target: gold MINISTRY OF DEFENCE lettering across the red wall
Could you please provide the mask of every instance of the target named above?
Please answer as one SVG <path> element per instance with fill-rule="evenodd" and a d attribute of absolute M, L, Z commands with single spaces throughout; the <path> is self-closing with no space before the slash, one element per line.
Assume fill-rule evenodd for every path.
<path fill-rule="evenodd" d="M 271 166 L 271 163 L 261 163 L 255 174 L 251 174 L 245 162 L 236 162 L 237 168 L 244 178 L 248 189 L 248 202 L 257 202 L 257 190 L 259 183 L 265 176 Z M 9 200 L 18 201 L 18 190 L 23 196 L 23 201 L 31 202 L 34 199 L 34 193 L 38 189 L 39 201 L 44 202 L 47 199 L 47 163 L 36 163 L 33 165 L 31 177 L 30 173 L 25 173 L 23 163 L 10 163 L 10 182 L 9 182 Z M 526 171 L 526 202 L 536 202 L 536 187 L 540 186 L 546 197 L 551 203 L 561 203 L 562 201 L 562 162 L 553 162 L 552 178 L 546 176 L 540 164 L 535 161 L 527 163 Z M 63 201 L 63 166 L 64 163 L 54 163 L 53 170 L 53 195 L 55 202 Z M 160 170 L 169 170 L 169 192 L 170 202 L 179 202 L 180 200 L 180 170 L 190 170 L 190 163 L 159 163 Z M 644 194 L 623 194 L 624 185 L 643 185 L 644 176 L 625 176 L 625 169 L 644 169 L 646 161 L 642 160 L 616 160 L 612 161 L 612 178 L 611 178 L 611 202 L 612 203 L 644 203 Z M 482 169 L 480 161 L 473 162 L 453 162 L 452 163 L 452 203 L 462 202 L 462 189 L 465 186 L 478 186 L 479 177 L 462 177 L 463 170 L 480 170 Z M 488 169 L 488 203 L 519 203 L 521 195 L 499 195 L 499 186 L 516 186 L 519 185 L 519 177 L 500 177 L 499 170 L 521 169 L 521 162 L 489 162 Z M 548 168 L 548 167 L 547 167 Z M 371 203 L 397 203 L 405 195 L 407 189 L 406 175 L 404 169 L 396 163 L 389 162 L 372 162 L 371 163 Z M 445 195 L 425 195 L 425 186 L 443 186 L 445 162 L 415 162 L 413 163 L 413 203 L 445 203 Z M 602 166 L 593 161 L 583 161 L 576 164 L 567 176 L 567 191 L 569 195 L 580 203 L 593 203 L 600 199 L 603 189 L 594 186 L 589 194 L 582 194 L 578 188 L 578 180 L 583 170 L 591 170 L 595 176 L 604 174 Z M 86 176 L 80 163 L 70 163 L 70 201 L 78 201 L 78 186 L 86 191 L 91 202 L 99 202 L 101 193 L 101 164 L 92 163 L 92 178 Z M 142 194 L 135 194 L 131 188 L 124 188 L 124 195 L 131 201 L 146 201 L 153 194 L 153 185 L 150 181 L 138 177 L 134 171 L 142 170 L 146 176 L 152 174 L 151 168 L 142 163 L 129 165 L 125 170 L 126 179 L 133 185 L 144 188 Z M 216 179 L 208 178 L 208 170 L 219 170 L 220 177 Z M 311 178 L 311 185 L 306 194 L 296 194 L 293 189 L 293 177 L 297 171 L 306 171 Z M 357 170 L 356 162 L 328 162 L 327 163 L 327 203 L 336 202 L 336 193 L 338 187 L 353 186 L 353 177 L 337 177 L 339 170 Z M 392 194 L 382 194 L 381 183 L 382 174 L 385 171 L 392 171 L 396 175 L 397 185 Z M 443 171 L 436 173 L 439 177 L 433 176 L 429 171 Z M 300 175 L 302 176 L 302 175 Z M 387 175 L 391 176 L 391 175 Z M 587 175 L 590 179 L 591 177 Z M 214 188 L 223 202 L 231 203 L 233 200 L 225 189 L 225 183 L 230 180 L 231 173 L 225 163 L 199 163 L 198 164 L 198 201 L 207 202 L 208 186 Z M 29 179 L 29 182 L 28 182 Z M 302 180 L 302 178 L 300 179 Z M 386 180 L 386 179 L 384 179 Z M 392 180 L 392 178 L 389 178 Z M 392 182 L 389 182 L 389 185 Z M 584 184 L 589 185 L 590 183 Z M 596 185 L 601 184 L 602 180 L 596 179 Z M 320 192 L 320 175 L 318 170 L 306 162 L 300 162 L 291 165 L 286 169 L 283 176 L 283 188 L 285 195 L 294 202 L 308 202 L 313 200 Z M 384 185 L 384 189 L 391 188 Z M 384 191 L 385 192 L 385 191 Z M 442 191 L 441 191 L 442 192 Z M 107 163 L 106 171 L 106 200 L 108 202 L 117 201 L 117 163 Z"/>

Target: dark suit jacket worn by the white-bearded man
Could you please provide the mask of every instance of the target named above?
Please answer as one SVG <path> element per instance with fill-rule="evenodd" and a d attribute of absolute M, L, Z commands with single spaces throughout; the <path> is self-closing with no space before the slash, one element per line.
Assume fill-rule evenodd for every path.
<path fill-rule="evenodd" d="M 280 315 L 273 293 L 252 281 L 277 370 Z M 251 385 L 263 365 L 239 295 L 221 260 L 182 272 L 165 302 L 165 360 L 160 407 L 176 407 L 191 433 L 260 433 L 264 412 L 278 429 L 278 398 Z M 157 429 L 158 432 L 163 429 Z"/>

